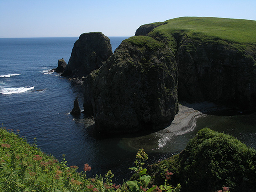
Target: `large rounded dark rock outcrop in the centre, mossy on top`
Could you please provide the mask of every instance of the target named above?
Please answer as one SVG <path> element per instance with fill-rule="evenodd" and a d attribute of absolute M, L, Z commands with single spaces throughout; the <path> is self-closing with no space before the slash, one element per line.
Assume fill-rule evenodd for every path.
<path fill-rule="evenodd" d="M 178 112 L 177 80 L 175 57 L 165 44 L 131 37 L 85 78 L 84 109 L 93 111 L 99 131 L 159 130 Z"/>

